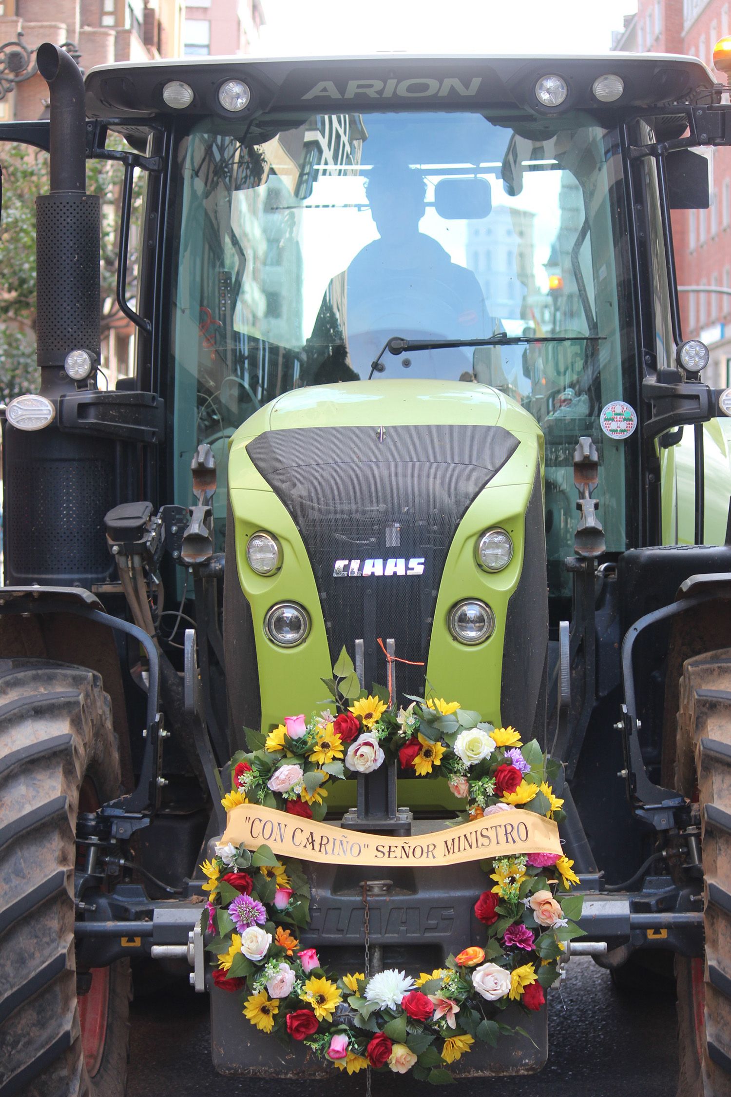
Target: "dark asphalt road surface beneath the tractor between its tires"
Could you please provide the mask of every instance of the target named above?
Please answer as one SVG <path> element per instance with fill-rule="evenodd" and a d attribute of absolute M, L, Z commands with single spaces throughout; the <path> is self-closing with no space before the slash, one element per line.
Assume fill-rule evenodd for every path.
<path fill-rule="evenodd" d="M 461 1097 L 675 1097 L 675 1003 L 619 992 L 609 973 L 574 958 L 549 997 L 550 1054 L 540 1074 L 460 1083 Z M 181 987 L 136 1002 L 128 1097 L 309 1097 L 321 1082 L 225 1078 L 210 1066 L 207 995 Z M 338 1094 L 364 1095 L 364 1075 L 336 1075 Z M 317 1087 L 317 1088 L 316 1088 Z M 424 1084 L 374 1074 L 373 1097 L 415 1097 Z M 432 1090 L 433 1092 L 433 1090 Z"/>

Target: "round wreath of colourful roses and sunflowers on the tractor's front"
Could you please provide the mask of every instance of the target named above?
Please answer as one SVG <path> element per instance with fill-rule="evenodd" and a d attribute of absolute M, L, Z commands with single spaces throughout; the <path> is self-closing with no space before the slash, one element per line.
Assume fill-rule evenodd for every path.
<path fill-rule="evenodd" d="M 389 690 L 361 689 L 344 649 L 333 674 L 323 681 L 336 714 L 287 716 L 265 736 L 247 730 L 253 749 L 231 759 L 227 811 L 256 803 L 322 819 L 330 781 L 397 759 L 402 776 L 446 777 L 466 802 L 462 822 L 517 806 L 564 818 L 549 783 L 560 764 L 536 740 L 524 745 L 513 727 L 494 727 L 457 701 L 409 698 L 397 710 Z M 202 866 L 213 982 L 242 995 L 243 1016 L 258 1029 L 287 1045 L 302 1042 L 349 1074 L 370 1066 L 452 1082 L 448 1065 L 476 1041 L 494 1047 L 500 1034 L 527 1037 L 502 1024 L 501 1011 L 509 1002 L 526 1014 L 544 1008 L 564 942 L 583 935 L 572 920 L 581 896 L 556 897 L 579 883 L 569 858 L 537 852 L 481 864 L 493 882 L 475 903 L 482 945 L 466 942 L 445 968 L 418 979 L 388 970 L 366 980 L 359 972 L 330 976 L 317 950 L 301 947 L 309 886 L 297 861 L 282 863 L 267 846 L 251 853 L 219 844 Z"/>

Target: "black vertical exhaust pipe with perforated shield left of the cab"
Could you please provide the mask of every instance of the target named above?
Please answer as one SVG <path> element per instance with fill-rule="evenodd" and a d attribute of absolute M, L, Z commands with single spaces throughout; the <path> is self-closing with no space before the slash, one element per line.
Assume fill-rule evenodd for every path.
<path fill-rule="evenodd" d="M 100 355 L 100 199 L 87 194 L 83 77 L 73 58 L 45 42 L 36 54 L 50 89 L 50 193 L 36 199 L 36 328 L 41 393 L 76 389 L 66 355 Z"/>

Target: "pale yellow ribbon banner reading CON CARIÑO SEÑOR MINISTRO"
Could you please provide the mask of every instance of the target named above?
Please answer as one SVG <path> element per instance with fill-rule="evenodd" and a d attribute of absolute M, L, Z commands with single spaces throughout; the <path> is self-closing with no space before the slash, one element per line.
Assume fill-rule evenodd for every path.
<path fill-rule="evenodd" d="M 247 849 L 266 845 L 277 857 L 322 864 L 418 864 L 438 867 L 511 853 L 561 853 L 552 819 L 515 810 L 470 819 L 412 838 L 384 837 L 341 829 L 259 804 L 237 804 L 228 813 L 221 839 Z"/>

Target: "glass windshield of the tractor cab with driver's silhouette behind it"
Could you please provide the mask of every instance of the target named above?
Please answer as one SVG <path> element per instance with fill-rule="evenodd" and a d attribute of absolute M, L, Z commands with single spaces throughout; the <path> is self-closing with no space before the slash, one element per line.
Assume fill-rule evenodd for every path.
<path fill-rule="evenodd" d="M 198 123 L 179 147 L 176 499 L 199 442 L 222 466 L 261 405 L 365 381 L 380 355 L 372 384 L 491 385 L 539 421 L 555 589 L 580 434 L 605 442 L 602 520 L 624 550 L 626 450 L 598 427 L 629 398 L 621 157 L 595 120 L 558 125 L 457 112 Z M 468 346 L 501 333 L 504 346 Z M 461 346 L 395 355 L 392 337 Z"/>

